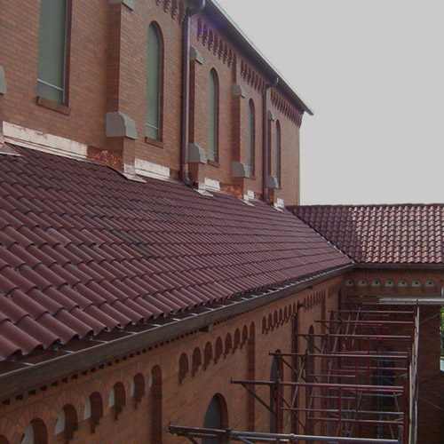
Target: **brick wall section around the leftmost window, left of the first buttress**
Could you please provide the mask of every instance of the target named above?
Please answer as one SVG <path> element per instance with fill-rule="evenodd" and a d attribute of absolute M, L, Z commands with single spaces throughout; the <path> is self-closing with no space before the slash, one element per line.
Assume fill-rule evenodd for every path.
<path fill-rule="evenodd" d="M 40 2 L 24 8 L 1 0 L 0 60 L 8 83 L 4 121 L 74 139 L 105 143 L 107 91 L 107 2 L 73 2 L 70 45 L 70 115 L 36 105 Z"/>

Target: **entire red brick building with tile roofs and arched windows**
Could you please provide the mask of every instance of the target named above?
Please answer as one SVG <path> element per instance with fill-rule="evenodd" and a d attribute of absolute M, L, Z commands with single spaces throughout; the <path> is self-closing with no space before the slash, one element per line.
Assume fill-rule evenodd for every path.
<path fill-rule="evenodd" d="M 341 310 L 387 298 L 428 304 L 417 379 L 396 382 L 419 386 L 405 442 L 442 442 L 442 205 L 298 206 L 310 108 L 213 0 L 0 11 L 0 444 L 336 436 L 314 349 Z M 408 361 L 411 340 L 385 355 Z M 297 400 L 231 383 L 300 377 Z M 400 402 L 409 429 L 416 397 Z M 354 434 L 392 438 L 371 421 Z"/>

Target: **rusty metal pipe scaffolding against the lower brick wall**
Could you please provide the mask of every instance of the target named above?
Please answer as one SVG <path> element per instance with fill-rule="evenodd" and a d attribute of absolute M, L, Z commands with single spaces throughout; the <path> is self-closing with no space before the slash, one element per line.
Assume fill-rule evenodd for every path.
<path fill-rule="evenodd" d="M 321 334 L 297 334 L 304 352 L 270 353 L 289 380 L 279 372 L 273 381 L 232 380 L 268 410 L 272 433 L 178 425 L 170 432 L 194 444 L 416 444 L 420 302 L 406 302 L 350 301 L 318 321 Z"/>

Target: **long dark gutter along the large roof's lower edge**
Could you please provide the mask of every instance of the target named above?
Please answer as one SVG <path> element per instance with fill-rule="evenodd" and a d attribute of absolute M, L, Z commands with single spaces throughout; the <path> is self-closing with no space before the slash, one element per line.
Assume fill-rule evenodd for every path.
<path fill-rule="evenodd" d="M 122 331 L 122 334 L 125 334 L 124 337 L 114 338 L 106 342 L 99 341 L 99 338 L 98 340 L 93 339 L 89 343 L 85 341 L 87 348 L 76 352 L 70 352 L 69 345 L 67 345 L 67 347 L 64 347 L 66 354 L 35 364 L 27 363 L 26 356 L 20 359 L 17 358 L 16 363 L 25 367 L 13 369 L 0 375 L 0 401 L 8 400 L 12 396 L 23 392 L 39 389 L 44 385 L 55 383 L 63 377 L 87 371 L 106 362 L 128 356 L 131 353 L 146 350 L 148 347 L 161 344 L 174 337 L 205 329 L 215 322 L 224 321 L 232 316 L 274 303 L 283 297 L 294 295 L 298 291 L 345 274 L 352 268 L 353 265 L 340 266 L 289 283 L 283 288 L 264 290 L 264 293 L 260 295 L 242 295 L 241 297 L 214 302 L 208 305 L 206 307 L 208 311 L 203 313 L 194 313 L 193 310 L 189 310 L 186 313 L 172 314 L 167 318 L 150 321 L 146 329 L 142 331 L 131 331 L 131 328 L 125 329 Z M 136 327 L 138 326 L 134 326 L 135 329 Z M 50 354 L 51 352 L 47 351 L 46 353 Z M 57 353 L 63 353 L 63 348 L 60 347 Z"/>

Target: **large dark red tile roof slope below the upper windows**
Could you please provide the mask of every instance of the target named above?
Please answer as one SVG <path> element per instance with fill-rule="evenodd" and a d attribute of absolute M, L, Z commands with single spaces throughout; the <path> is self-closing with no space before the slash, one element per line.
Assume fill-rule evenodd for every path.
<path fill-rule="evenodd" d="M 287 210 L 16 149 L 0 162 L 0 361 L 350 263 Z"/>

